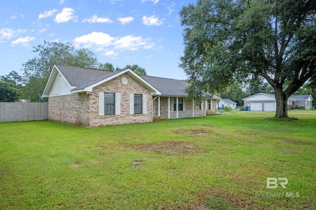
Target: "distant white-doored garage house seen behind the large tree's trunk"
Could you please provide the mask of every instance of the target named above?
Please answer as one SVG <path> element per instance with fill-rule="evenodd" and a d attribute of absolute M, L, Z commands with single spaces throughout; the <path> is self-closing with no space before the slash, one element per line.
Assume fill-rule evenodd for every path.
<path fill-rule="evenodd" d="M 258 93 L 242 99 L 244 106 L 249 106 L 250 111 L 276 111 L 276 98 L 274 94 Z M 312 95 L 292 95 L 287 104 L 300 109 L 312 109 L 314 99 Z"/>

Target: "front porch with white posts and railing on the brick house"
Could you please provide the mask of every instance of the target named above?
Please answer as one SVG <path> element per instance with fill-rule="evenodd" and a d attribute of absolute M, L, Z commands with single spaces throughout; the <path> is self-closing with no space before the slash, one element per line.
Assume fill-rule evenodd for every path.
<path fill-rule="evenodd" d="M 216 99 L 203 98 L 196 103 L 185 97 L 153 97 L 153 116 L 161 119 L 203 117 L 216 113 Z"/>

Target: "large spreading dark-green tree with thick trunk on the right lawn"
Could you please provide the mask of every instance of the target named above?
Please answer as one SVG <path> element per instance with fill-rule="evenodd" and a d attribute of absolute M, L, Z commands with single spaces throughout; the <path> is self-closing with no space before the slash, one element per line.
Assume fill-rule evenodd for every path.
<path fill-rule="evenodd" d="M 315 0 L 198 0 L 180 12 L 187 92 L 221 92 L 234 82 L 265 79 L 276 117 L 306 81 L 316 81 Z"/>

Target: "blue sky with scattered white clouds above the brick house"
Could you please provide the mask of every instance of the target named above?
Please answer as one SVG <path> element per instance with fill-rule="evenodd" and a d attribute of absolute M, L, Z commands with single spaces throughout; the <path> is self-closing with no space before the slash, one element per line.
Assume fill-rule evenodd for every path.
<path fill-rule="evenodd" d="M 88 47 L 102 63 L 138 64 L 148 75 L 185 79 L 179 11 L 193 0 L 3 0 L 0 75 L 35 56 L 32 46 L 61 39 Z"/>

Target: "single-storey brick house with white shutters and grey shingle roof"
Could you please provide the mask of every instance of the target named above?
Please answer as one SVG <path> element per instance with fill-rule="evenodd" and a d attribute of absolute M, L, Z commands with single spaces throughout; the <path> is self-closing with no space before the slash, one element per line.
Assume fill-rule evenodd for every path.
<path fill-rule="evenodd" d="M 138 75 L 130 69 L 95 70 L 54 65 L 43 97 L 48 119 L 85 126 L 151 122 L 216 113 L 217 96 L 187 98 L 183 80 Z"/>

